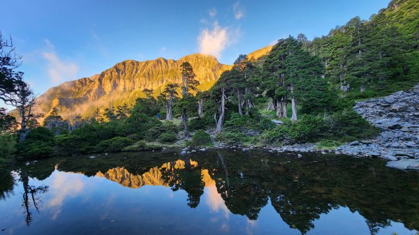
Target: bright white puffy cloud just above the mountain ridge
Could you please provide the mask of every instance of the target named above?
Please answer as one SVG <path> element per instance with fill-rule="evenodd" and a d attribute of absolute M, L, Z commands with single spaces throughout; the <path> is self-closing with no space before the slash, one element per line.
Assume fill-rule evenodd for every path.
<path fill-rule="evenodd" d="M 219 58 L 228 45 L 237 42 L 239 36 L 240 29 L 231 30 L 228 27 L 219 26 L 215 22 L 212 29 L 205 28 L 200 31 L 198 36 L 200 53 L 211 54 Z"/>

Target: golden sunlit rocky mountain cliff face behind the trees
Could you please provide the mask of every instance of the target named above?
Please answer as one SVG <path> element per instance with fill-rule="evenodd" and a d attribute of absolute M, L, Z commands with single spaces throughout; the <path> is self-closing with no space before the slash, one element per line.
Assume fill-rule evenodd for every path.
<path fill-rule="evenodd" d="M 96 107 L 132 103 L 144 96 L 144 89 L 152 89 L 157 95 L 166 84 L 181 83 L 180 66 L 185 61 L 191 63 L 201 91 L 210 89 L 221 73 L 232 67 L 219 63 L 214 56 L 203 54 L 191 54 L 177 61 L 163 58 L 123 61 L 99 75 L 49 89 L 39 98 L 43 103 L 40 111 L 47 113 L 57 107 L 66 118 L 70 114 L 89 114 Z"/>

